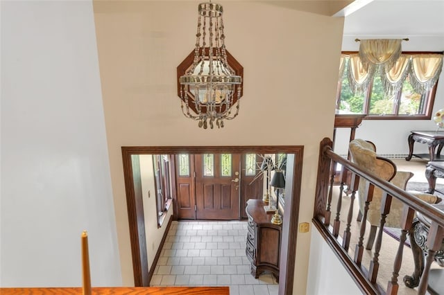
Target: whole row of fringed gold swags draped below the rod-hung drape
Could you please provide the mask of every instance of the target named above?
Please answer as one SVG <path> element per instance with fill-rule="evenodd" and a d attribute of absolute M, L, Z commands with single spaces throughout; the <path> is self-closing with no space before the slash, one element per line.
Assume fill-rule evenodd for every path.
<path fill-rule="evenodd" d="M 380 75 L 384 92 L 393 94 L 402 88 L 404 80 L 409 76 L 409 82 L 417 93 L 426 93 L 431 90 L 441 74 L 443 68 L 442 54 L 400 54 L 396 60 L 394 55 L 375 55 L 365 61 L 361 54 L 348 55 L 348 82 L 350 89 L 355 93 L 366 91 L 375 75 Z M 346 56 L 341 56 L 341 65 Z M 379 63 L 369 62 L 377 59 Z M 385 62 L 384 62 L 385 60 Z M 340 74 L 343 69 L 340 67 Z"/>

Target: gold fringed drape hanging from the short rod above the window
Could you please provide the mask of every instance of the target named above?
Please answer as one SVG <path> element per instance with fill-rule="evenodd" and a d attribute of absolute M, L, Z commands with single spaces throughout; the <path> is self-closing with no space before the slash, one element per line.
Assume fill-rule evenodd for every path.
<path fill-rule="evenodd" d="M 362 39 L 359 57 L 365 69 L 372 64 L 386 64 L 391 68 L 401 55 L 402 39 Z"/>

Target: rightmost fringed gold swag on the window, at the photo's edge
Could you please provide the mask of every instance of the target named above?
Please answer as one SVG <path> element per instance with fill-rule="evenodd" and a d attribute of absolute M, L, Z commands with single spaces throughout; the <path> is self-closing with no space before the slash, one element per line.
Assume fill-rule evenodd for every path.
<path fill-rule="evenodd" d="M 418 93 L 432 89 L 443 69 L 442 54 L 418 54 L 411 57 L 410 83 Z"/>

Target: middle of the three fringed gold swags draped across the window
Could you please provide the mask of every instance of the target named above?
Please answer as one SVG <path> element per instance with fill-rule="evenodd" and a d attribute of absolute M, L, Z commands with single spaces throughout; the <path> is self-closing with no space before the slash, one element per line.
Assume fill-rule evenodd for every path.
<path fill-rule="evenodd" d="M 409 71 L 410 55 L 401 55 L 392 67 L 389 67 L 388 64 L 384 65 L 381 71 L 381 82 L 387 96 L 398 92 L 402 88 Z"/>

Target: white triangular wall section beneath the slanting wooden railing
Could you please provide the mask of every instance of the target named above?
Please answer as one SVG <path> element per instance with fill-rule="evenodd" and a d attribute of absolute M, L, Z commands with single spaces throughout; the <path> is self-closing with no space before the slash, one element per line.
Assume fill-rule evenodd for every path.
<path fill-rule="evenodd" d="M 311 248 L 307 280 L 310 295 L 357 295 L 362 292 L 315 226 L 311 230 Z"/>

